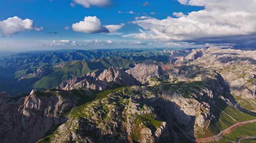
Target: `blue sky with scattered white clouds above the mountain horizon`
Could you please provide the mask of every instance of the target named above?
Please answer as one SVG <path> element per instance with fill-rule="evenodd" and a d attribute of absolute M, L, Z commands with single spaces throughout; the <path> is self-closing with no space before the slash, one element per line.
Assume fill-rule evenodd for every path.
<path fill-rule="evenodd" d="M 237 44 L 234 43 L 234 38 L 226 39 L 227 35 L 235 35 L 235 38 L 241 35 L 254 37 L 254 27 L 251 29 L 244 28 L 245 30 L 249 29 L 244 33 L 240 32 L 244 30 L 243 28 L 231 29 L 235 32 L 230 32 L 229 29 L 222 32 L 223 30 L 221 29 L 223 29 L 223 26 L 220 27 L 220 24 L 233 25 L 233 22 L 229 22 L 227 18 L 226 23 L 219 23 L 217 18 L 213 18 L 214 16 L 209 14 L 210 12 L 220 12 L 218 11 L 218 7 L 214 7 L 217 9 L 215 11 L 212 8 L 214 4 L 216 5 L 216 0 L 209 1 L 210 4 L 212 1 L 212 5 L 202 3 L 204 0 L 95 0 L 97 1 L 96 3 L 95 1 L 91 1 L 92 0 L 1 1 L 0 42 L 2 43 L 2 47 L 0 50 L 27 51 L 65 48 L 203 47 L 207 44 Z M 227 1 L 230 2 L 229 0 Z M 228 2 L 223 3 L 224 8 L 226 5 L 230 4 Z M 251 4 L 249 2 L 247 0 L 248 6 L 255 4 L 253 0 Z M 85 3 L 89 4 L 89 6 L 86 6 Z M 226 8 L 226 14 L 241 11 L 236 9 L 237 7 L 234 8 L 235 9 Z M 203 16 L 205 17 L 202 17 L 201 11 L 209 13 L 204 12 Z M 175 12 L 177 12 L 177 14 L 175 14 Z M 246 12 L 254 14 L 255 11 L 250 11 L 249 7 L 249 10 Z M 4 20 L 13 18 L 14 16 L 17 16 L 21 21 L 25 19 L 33 20 L 33 23 L 29 28 L 24 29 L 24 27 L 22 27 L 23 25 L 18 25 L 16 29 L 12 29 L 12 26 L 8 26 L 10 22 Z M 84 18 L 87 16 L 96 16 L 92 19 L 100 20 L 100 26 L 105 30 L 106 25 L 115 25 L 114 27 L 121 23 L 125 25 L 118 28 L 118 30 L 115 29 L 114 32 L 109 31 L 108 28 L 106 30 L 107 32 L 103 32 L 101 28 L 97 29 L 99 27 L 93 29 L 94 27 L 90 27 L 93 25 L 86 25 L 86 23 L 72 26 L 74 23 L 83 22 Z M 168 16 L 171 19 L 168 18 Z M 254 17 L 250 19 L 252 18 Z M 244 17 L 244 19 L 247 20 L 249 18 Z M 209 21 L 213 21 L 213 23 L 219 26 L 216 32 L 220 31 L 220 34 L 205 32 L 205 28 L 209 25 L 205 23 L 204 20 L 208 23 L 210 23 Z M 195 23 L 204 25 L 198 28 L 198 26 L 195 26 Z M 97 24 L 98 23 L 95 25 Z M 253 25 L 254 21 L 249 24 Z M 209 31 L 212 31 L 210 29 L 211 27 L 216 28 L 216 25 L 210 25 L 208 27 Z M 238 26 L 240 25 L 235 25 L 235 27 Z M 65 27 L 69 29 L 65 30 Z M 164 30 L 162 27 L 164 27 Z M 36 28 L 39 29 L 36 30 Z M 184 29 L 187 29 L 186 31 L 193 29 L 193 31 L 184 32 Z M 222 38 L 224 40 L 220 40 L 219 37 L 222 36 L 225 36 L 225 38 Z"/>

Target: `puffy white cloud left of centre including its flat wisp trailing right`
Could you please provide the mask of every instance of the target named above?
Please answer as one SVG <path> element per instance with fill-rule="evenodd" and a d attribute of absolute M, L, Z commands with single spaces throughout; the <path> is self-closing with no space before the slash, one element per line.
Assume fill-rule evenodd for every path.
<path fill-rule="evenodd" d="M 124 23 L 121 23 L 120 25 L 103 26 L 96 16 L 86 16 L 83 21 L 73 23 L 72 29 L 84 33 L 112 33 L 121 29 L 124 25 Z"/>

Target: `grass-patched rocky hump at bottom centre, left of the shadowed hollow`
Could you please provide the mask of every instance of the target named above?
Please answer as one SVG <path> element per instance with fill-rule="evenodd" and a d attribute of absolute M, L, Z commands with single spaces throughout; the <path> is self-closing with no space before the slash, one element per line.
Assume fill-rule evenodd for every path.
<path fill-rule="evenodd" d="M 143 89 L 150 92 L 146 87 Z M 139 86 L 101 93 L 104 98 L 74 108 L 68 121 L 53 136 L 39 142 L 50 139 L 52 143 L 154 143 L 170 139 L 167 122 L 146 104 L 143 92 L 143 95 L 135 92 L 141 92 Z"/>

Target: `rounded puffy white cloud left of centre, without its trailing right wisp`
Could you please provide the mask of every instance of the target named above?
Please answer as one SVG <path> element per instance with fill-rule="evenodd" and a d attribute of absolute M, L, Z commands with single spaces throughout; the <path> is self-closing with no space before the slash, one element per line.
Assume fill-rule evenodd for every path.
<path fill-rule="evenodd" d="M 84 33 L 109 33 L 96 16 L 85 16 L 83 21 L 72 24 L 73 31 Z"/>

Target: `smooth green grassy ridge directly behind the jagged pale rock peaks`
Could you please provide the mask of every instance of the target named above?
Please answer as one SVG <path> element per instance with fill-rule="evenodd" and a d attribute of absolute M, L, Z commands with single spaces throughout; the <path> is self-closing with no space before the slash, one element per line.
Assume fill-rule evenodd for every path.
<path fill-rule="evenodd" d="M 115 67 L 127 67 L 132 61 L 127 59 L 100 59 L 97 61 L 74 61 L 66 64 L 61 69 L 43 77 L 36 81 L 32 88 L 33 89 L 51 89 L 58 85 L 64 80 L 70 79 L 75 76 L 81 76 L 88 73 L 89 71 L 97 71 L 99 69 L 107 69 L 110 66 Z M 31 89 L 32 89 L 31 88 Z"/>

